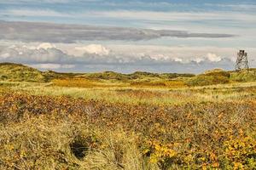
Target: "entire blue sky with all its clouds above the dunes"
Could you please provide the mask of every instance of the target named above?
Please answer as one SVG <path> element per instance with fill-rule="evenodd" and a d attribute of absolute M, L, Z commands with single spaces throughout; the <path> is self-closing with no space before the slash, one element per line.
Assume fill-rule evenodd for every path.
<path fill-rule="evenodd" d="M 0 62 L 61 72 L 256 67 L 255 0 L 0 0 Z"/>

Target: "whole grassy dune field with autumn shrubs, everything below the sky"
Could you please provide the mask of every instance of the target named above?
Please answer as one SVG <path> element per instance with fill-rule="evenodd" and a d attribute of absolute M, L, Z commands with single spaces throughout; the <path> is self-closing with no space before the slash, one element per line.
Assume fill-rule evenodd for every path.
<path fill-rule="evenodd" d="M 256 168 L 254 70 L 0 71 L 1 169 Z"/>

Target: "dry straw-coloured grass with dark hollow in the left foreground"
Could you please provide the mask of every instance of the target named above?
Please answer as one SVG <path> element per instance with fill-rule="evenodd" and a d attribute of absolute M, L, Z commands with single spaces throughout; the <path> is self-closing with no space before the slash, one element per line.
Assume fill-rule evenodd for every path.
<path fill-rule="evenodd" d="M 1 127 L 0 134 L 1 169 L 143 169 L 136 138 L 122 130 L 38 116 Z"/>

